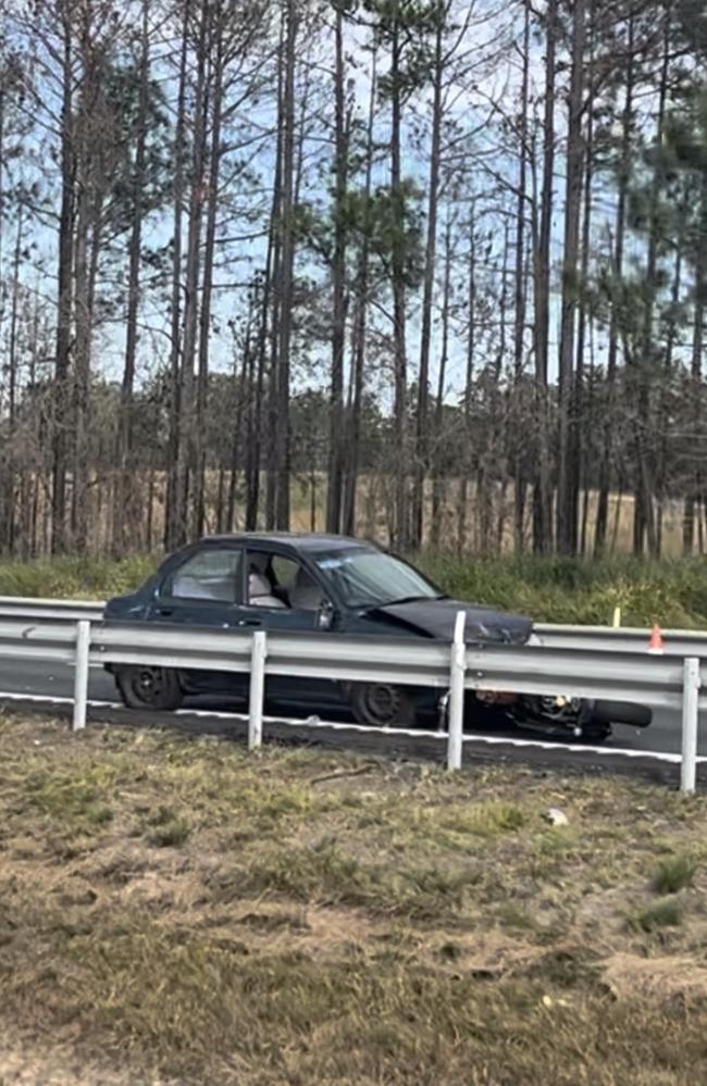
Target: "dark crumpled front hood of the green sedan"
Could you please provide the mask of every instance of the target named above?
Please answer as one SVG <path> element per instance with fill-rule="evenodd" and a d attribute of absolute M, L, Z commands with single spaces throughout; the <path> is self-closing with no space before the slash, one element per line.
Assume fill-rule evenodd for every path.
<path fill-rule="evenodd" d="M 464 603 L 462 600 L 414 600 L 410 603 L 388 603 L 375 608 L 372 614 L 388 619 L 392 625 L 404 626 L 423 637 L 450 641 L 459 611 L 464 611 L 467 645 L 493 642 L 524 645 L 533 629 L 532 619 L 521 614 L 506 614 L 488 608 Z"/>

